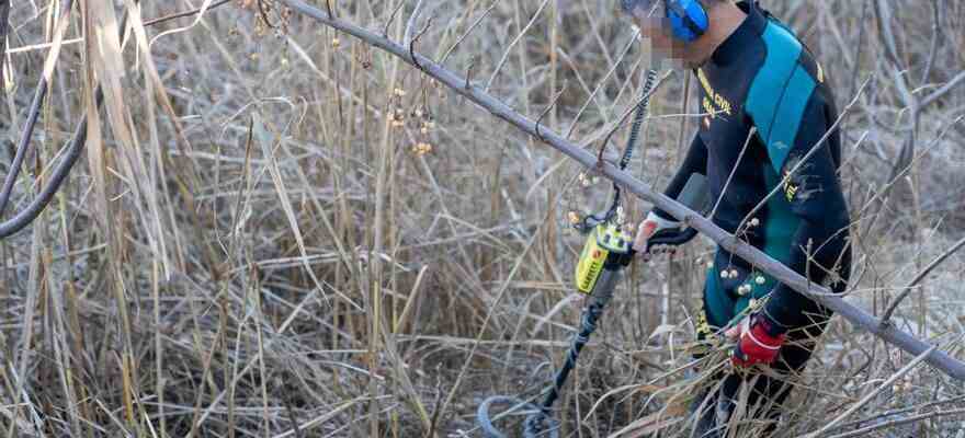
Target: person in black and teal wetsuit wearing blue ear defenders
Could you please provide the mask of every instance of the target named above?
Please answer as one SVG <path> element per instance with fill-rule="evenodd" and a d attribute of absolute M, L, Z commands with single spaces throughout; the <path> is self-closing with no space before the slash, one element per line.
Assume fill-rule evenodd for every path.
<path fill-rule="evenodd" d="M 810 280 L 844 290 L 850 270 L 848 205 L 838 178 L 841 145 L 827 71 L 794 32 L 756 2 L 623 0 L 655 53 L 693 69 L 702 117 L 680 170 L 666 189 L 676 198 L 691 174 L 706 176 L 718 227 Z M 769 194 L 774 193 L 769 197 Z M 681 223 L 654 209 L 634 247 Z M 742 384 L 752 385 L 751 415 L 773 430 L 790 391 L 784 379 L 804 369 L 830 311 L 717 249 L 707 268 L 697 337 L 737 341 L 731 360 L 701 397 L 695 436 L 726 435 Z M 769 373 L 756 372 L 770 367 Z M 762 407 L 761 407 L 762 406 Z"/>

